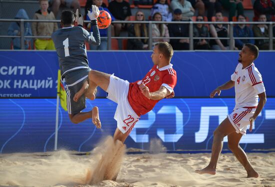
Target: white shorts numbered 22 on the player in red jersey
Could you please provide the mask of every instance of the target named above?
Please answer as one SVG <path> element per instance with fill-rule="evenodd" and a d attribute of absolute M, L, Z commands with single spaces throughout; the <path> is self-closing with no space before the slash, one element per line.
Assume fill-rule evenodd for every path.
<path fill-rule="evenodd" d="M 139 119 L 128 102 L 128 90 L 129 82 L 127 80 L 120 79 L 113 74 L 110 76 L 107 98 L 117 103 L 113 118 L 117 121 L 117 128 L 122 133 L 126 132 L 127 135 Z"/>

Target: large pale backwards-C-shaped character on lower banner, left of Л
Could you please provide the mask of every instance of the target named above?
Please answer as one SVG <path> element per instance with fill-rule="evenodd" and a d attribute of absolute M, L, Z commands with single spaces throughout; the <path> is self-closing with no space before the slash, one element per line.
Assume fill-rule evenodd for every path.
<path fill-rule="evenodd" d="M 161 113 L 175 113 L 175 133 L 165 134 L 163 128 L 157 128 L 156 134 L 163 142 L 177 142 L 183 135 L 183 114 L 177 106 L 162 106 L 157 114 Z"/>

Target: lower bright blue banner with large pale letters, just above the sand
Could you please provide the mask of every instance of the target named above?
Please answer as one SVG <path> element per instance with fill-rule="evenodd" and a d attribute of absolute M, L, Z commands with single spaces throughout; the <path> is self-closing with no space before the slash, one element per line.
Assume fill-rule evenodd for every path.
<path fill-rule="evenodd" d="M 112 135 L 116 104 L 108 99 L 86 102 L 88 111 L 97 105 L 102 128 L 91 119 L 72 124 L 59 108 L 58 148 L 89 151 L 101 138 Z M 54 148 L 56 99 L 0 99 L 0 153 L 40 152 Z M 127 147 L 148 149 L 151 138 L 160 138 L 168 150 L 211 149 L 212 133 L 231 113 L 233 98 L 163 99 L 141 116 L 125 143 Z M 240 140 L 246 150 L 274 148 L 275 98 L 268 98 L 252 132 Z M 227 149 L 224 138 L 224 149 Z"/>

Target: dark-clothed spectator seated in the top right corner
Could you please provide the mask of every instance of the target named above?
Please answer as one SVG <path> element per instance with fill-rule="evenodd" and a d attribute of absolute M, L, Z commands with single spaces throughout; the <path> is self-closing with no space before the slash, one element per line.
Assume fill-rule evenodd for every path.
<path fill-rule="evenodd" d="M 265 14 L 267 21 L 275 21 L 275 4 L 272 0 L 255 0 L 253 9 L 254 20 L 258 20 L 260 14 Z"/>

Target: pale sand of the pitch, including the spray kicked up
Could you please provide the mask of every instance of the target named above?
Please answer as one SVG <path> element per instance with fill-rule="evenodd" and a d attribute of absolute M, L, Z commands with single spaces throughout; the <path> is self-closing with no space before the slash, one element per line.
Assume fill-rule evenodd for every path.
<path fill-rule="evenodd" d="M 246 178 L 231 153 L 221 154 L 216 175 L 199 175 L 194 170 L 206 166 L 209 153 L 161 153 L 165 147 L 152 142 L 152 153 L 125 154 L 124 145 L 111 142 L 107 137 L 82 156 L 65 150 L 0 154 L 0 186 L 275 186 L 275 152 L 248 153 L 260 176 Z"/>

